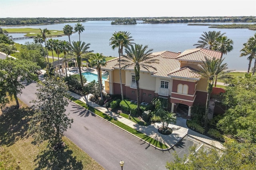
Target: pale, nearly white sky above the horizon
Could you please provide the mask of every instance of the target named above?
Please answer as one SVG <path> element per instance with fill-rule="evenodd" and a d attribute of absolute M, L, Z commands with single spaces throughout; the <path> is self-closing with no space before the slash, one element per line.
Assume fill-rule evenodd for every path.
<path fill-rule="evenodd" d="M 256 16 L 256 0 L 0 0 L 0 18 Z"/>

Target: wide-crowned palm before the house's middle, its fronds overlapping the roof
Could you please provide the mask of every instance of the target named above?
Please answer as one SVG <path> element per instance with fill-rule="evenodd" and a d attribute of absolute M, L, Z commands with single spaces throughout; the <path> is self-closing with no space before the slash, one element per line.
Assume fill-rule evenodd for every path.
<path fill-rule="evenodd" d="M 135 81 L 136 81 L 136 87 L 137 87 L 137 112 L 140 113 L 140 93 L 139 93 L 139 80 L 140 80 L 140 67 L 146 69 L 148 72 L 150 72 L 149 68 L 152 68 L 156 70 L 154 66 L 152 66 L 154 63 L 158 63 L 158 59 L 154 59 L 154 55 L 150 55 L 151 51 L 153 49 L 149 49 L 148 45 L 145 45 L 144 47 L 139 44 L 130 45 L 130 47 L 127 47 L 125 49 L 125 52 L 127 55 L 125 55 L 121 63 L 125 64 L 122 68 L 128 67 L 130 65 L 134 65 L 134 72 L 135 72 Z"/>

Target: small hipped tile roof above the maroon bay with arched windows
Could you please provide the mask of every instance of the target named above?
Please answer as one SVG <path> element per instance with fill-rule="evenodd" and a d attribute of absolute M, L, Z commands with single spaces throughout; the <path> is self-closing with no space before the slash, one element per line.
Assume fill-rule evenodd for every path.
<path fill-rule="evenodd" d="M 200 74 L 195 72 L 195 69 L 191 67 L 184 67 L 173 71 L 169 74 L 171 77 L 181 77 L 190 79 L 200 79 Z"/>

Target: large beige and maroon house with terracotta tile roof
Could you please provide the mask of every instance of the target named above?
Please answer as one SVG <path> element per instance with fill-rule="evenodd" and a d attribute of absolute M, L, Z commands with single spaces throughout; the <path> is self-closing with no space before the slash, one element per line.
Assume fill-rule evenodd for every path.
<path fill-rule="evenodd" d="M 206 58 L 221 57 L 221 52 L 204 48 L 187 49 L 184 52 L 160 51 L 154 52 L 156 70 L 150 68 L 140 70 L 140 101 L 151 103 L 159 97 L 163 107 L 176 112 L 178 105 L 188 107 L 188 116 L 194 104 L 205 105 L 207 97 L 207 80 L 200 78 L 195 72 L 199 64 Z M 121 66 L 122 67 L 122 66 Z M 105 80 L 105 91 L 110 94 L 121 94 L 118 58 L 107 61 L 102 67 L 108 71 Z M 123 94 L 126 98 L 136 101 L 136 82 L 134 65 L 121 70 Z"/>

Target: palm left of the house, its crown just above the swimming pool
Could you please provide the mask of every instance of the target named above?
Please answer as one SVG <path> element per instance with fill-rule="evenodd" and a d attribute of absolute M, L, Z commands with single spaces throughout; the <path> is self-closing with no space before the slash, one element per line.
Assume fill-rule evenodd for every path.
<path fill-rule="evenodd" d="M 90 48 L 89 45 L 90 45 L 90 43 L 86 44 L 85 42 L 80 42 L 80 41 L 78 41 L 78 42 L 73 41 L 72 45 L 70 45 L 71 54 L 76 56 L 76 61 L 78 64 L 82 87 L 84 87 L 84 83 L 83 83 L 83 77 L 82 77 L 82 72 L 81 72 L 81 60 L 82 60 L 81 55 L 83 55 L 85 53 L 93 52 L 93 51 L 87 51 Z"/>

